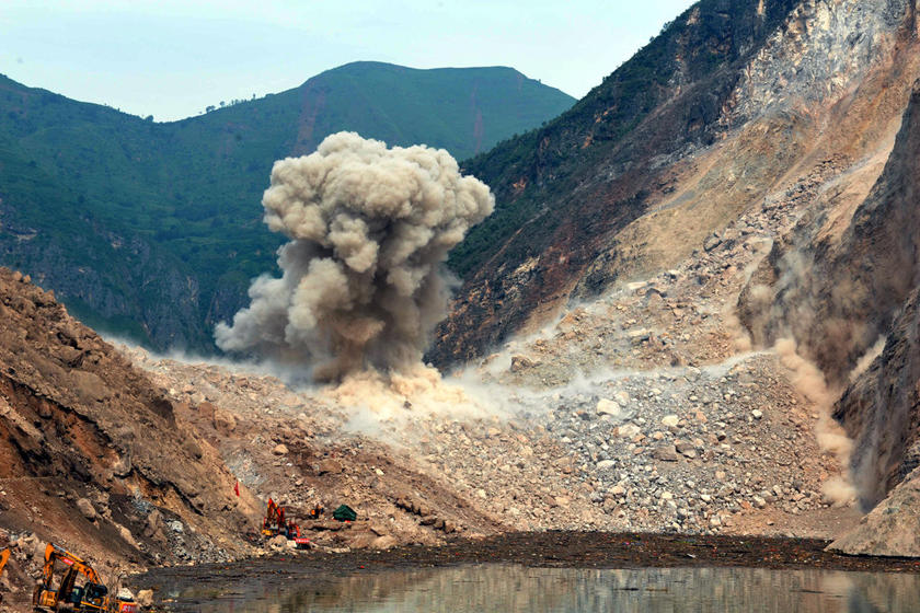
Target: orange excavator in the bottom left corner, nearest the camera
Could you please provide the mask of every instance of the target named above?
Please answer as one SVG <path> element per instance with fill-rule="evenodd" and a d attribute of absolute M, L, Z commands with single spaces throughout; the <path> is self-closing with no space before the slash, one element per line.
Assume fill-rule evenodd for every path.
<path fill-rule="evenodd" d="M 57 589 L 54 588 L 55 563 L 60 560 L 66 570 Z M 82 576 L 85 582 L 77 586 Z M 35 611 L 99 611 L 117 613 L 137 613 L 134 601 L 112 599 L 99 577 L 99 574 L 83 558 L 62 550 L 54 543 L 45 547 L 45 567 L 42 582 L 35 586 L 32 594 Z"/>

